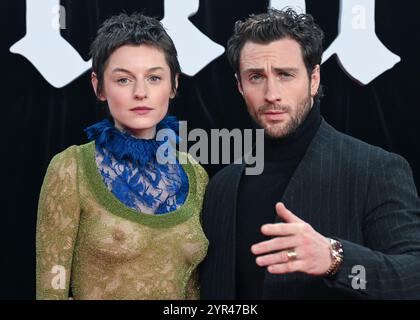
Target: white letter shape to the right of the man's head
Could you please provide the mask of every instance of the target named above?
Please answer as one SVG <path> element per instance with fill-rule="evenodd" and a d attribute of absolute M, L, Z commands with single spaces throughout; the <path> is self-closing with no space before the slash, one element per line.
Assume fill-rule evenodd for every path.
<path fill-rule="evenodd" d="M 341 0 L 339 35 L 322 62 L 337 54 L 350 77 L 366 85 L 400 62 L 375 33 L 375 0 Z"/>

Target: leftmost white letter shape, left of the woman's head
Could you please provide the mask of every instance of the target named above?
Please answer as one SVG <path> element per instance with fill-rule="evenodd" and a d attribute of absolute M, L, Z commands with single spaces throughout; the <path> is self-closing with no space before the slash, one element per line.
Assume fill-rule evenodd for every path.
<path fill-rule="evenodd" d="M 52 86 L 61 88 L 91 67 L 54 27 L 60 0 L 26 0 L 26 35 L 10 47 L 28 59 Z"/>

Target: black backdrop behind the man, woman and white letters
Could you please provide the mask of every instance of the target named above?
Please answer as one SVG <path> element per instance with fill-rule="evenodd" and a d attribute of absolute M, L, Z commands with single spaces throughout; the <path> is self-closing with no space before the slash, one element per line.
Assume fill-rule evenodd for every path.
<path fill-rule="evenodd" d="M 67 28 L 61 34 L 84 60 L 89 59 L 89 44 L 99 24 L 110 15 L 124 10 L 163 17 L 163 0 L 68 0 L 61 4 L 67 14 Z M 267 5 L 268 1 L 262 0 L 201 0 L 199 11 L 190 20 L 225 47 L 234 22 L 249 13 L 266 11 Z M 328 47 L 338 33 L 339 1 L 307 0 L 306 6 L 324 29 Z M 104 117 L 91 89 L 89 72 L 56 89 L 26 58 L 9 52 L 10 46 L 25 35 L 25 10 L 24 0 L 0 2 L 0 298 L 34 298 L 36 207 L 45 170 L 54 154 L 87 142 L 83 128 Z M 419 1 L 376 1 L 376 33 L 402 61 L 368 85 L 362 86 L 347 76 L 336 57 L 321 68 L 326 93 L 321 112 L 325 119 L 340 131 L 404 156 L 413 168 L 417 186 L 419 16 Z M 189 129 L 251 126 L 224 55 L 194 77 L 181 77 L 172 110 L 181 120 L 188 120 Z M 220 168 L 206 166 L 211 176 Z"/>

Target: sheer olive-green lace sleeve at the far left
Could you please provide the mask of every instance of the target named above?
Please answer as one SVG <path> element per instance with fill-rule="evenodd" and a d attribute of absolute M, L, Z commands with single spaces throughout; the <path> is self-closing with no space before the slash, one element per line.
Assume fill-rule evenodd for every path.
<path fill-rule="evenodd" d="M 77 149 L 56 155 L 42 184 L 36 231 L 36 297 L 68 299 L 80 203 Z"/>

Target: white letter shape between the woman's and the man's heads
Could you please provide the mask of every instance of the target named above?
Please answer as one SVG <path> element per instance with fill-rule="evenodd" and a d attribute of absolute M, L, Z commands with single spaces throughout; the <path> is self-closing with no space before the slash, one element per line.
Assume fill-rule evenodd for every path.
<path fill-rule="evenodd" d="M 197 13 L 198 7 L 199 0 L 164 2 L 162 24 L 175 43 L 182 72 L 189 76 L 194 76 L 225 51 L 188 20 Z"/>

